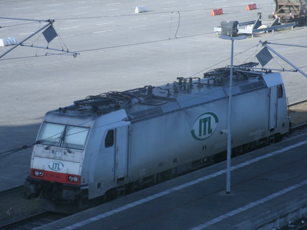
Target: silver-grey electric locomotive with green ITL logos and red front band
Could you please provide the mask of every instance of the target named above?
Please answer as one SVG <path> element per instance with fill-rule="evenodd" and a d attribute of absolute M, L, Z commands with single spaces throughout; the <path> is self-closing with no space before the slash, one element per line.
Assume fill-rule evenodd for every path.
<path fill-rule="evenodd" d="M 233 153 L 289 131 L 279 73 L 233 69 Z M 49 111 L 33 147 L 24 198 L 55 212 L 90 207 L 197 168 L 227 149 L 230 67 L 159 87 L 88 96 Z M 225 135 L 226 134 L 226 135 Z"/>

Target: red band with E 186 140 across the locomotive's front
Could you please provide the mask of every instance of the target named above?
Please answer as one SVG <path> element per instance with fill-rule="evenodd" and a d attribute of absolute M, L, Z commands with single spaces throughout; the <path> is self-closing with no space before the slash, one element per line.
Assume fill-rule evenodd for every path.
<path fill-rule="evenodd" d="M 36 176 L 34 174 L 35 171 L 43 172 L 44 173 L 43 177 Z M 78 177 L 78 182 L 68 181 L 68 176 Z M 74 185 L 80 185 L 81 184 L 81 177 L 78 176 L 78 175 L 60 173 L 60 172 L 52 172 L 52 171 L 41 170 L 41 169 L 31 169 L 31 177 L 43 179 L 45 181 L 56 181 L 56 182 L 59 182 L 59 183 L 68 183 L 68 184 L 74 184 Z"/>

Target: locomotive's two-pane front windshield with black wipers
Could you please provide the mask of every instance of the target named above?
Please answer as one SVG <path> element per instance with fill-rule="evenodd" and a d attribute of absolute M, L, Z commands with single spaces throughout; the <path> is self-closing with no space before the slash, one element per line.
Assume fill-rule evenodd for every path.
<path fill-rule="evenodd" d="M 44 122 L 39 140 L 42 144 L 83 149 L 89 128 Z"/>

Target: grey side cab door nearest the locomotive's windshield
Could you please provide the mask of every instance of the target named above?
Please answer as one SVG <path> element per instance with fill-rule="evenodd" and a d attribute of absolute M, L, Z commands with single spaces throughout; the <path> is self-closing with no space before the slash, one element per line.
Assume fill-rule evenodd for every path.
<path fill-rule="evenodd" d="M 128 127 L 123 126 L 115 129 L 115 162 L 114 179 L 126 176 L 127 149 L 128 149 Z"/>

